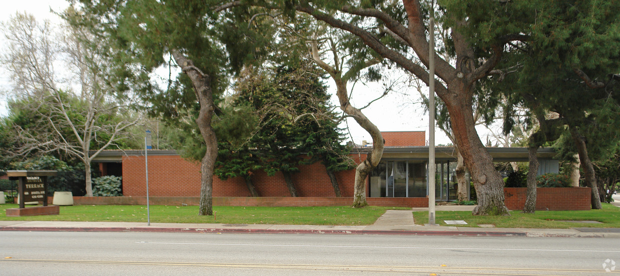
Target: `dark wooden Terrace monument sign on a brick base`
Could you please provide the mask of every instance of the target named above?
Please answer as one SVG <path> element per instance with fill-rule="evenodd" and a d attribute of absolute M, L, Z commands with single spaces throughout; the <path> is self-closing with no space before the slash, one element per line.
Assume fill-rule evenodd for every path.
<path fill-rule="evenodd" d="M 56 171 L 7 171 L 11 180 L 19 181 L 19 209 L 6 209 L 7 217 L 26 215 L 58 215 L 60 207 L 47 205 L 47 177 L 56 175 Z M 43 206 L 25 208 L 25 202 L 43 202 Z"/>

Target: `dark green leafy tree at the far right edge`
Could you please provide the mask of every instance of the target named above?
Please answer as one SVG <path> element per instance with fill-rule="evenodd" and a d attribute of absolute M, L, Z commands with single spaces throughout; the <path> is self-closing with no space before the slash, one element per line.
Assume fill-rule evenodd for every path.
<path fill-rule="evenodd" d="M 597 118 L 606 116 L 596 115 L 599 111 L 615 114 L 618 119 L 612 110 L 619 98 L 613 79 L 620 72 L 620 52 L 610 45 L 620 42 L 620 7 L 613 1 L 547 1 L 539 3 L 536 9 L 538 12 L 529 14 L 536 22 L 529 31 L 530 39 L 512 45 L 512 51 L 500 65 L 520 67 L 520 74 L 513 76 L 507 84 L 510 88 L 504 90 L 518 93 L 516 98 L 521 98 L 541 123 L 538 137 L 531 139 L 531 152 L 542 142 L 557 139 L 562 125 L 568 127 L 585 182 L 591 188 L 592 208 L 600 209 L 592 152 L 588 148 L 608 144 L 609 139 L 586 137 L 592 131 L 615 131 L 592 127 L 601 126 L 596 123 Z M 548 111 L 556 112 L 559 118 L 544 118 Z M 534 204 L 530 201 L 526 205 L 531 206 L 526 212 L 533 212 Z"/>

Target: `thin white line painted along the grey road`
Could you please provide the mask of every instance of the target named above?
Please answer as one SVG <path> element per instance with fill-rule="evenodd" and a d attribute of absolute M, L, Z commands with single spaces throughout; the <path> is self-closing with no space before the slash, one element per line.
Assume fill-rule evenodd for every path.
<path fill-rule="evenodd" d="M 138 241 L 142 244 L 184 244 L 208 246 L 278 246 L 306 248 L 389 248 L 389 249 L 431 249 L 431 250 L 494 250 L 494 251 L 554 251 L 554 252 L 605 252 L 620 253 L 616 250 L 573 250 L 573 249 L 531 249 L 531 248 L 425 248 L 417 246 L 347 246 L 347 245 L 314 245 L 314 244 L 244 244 L 244 243 L 163 243 L 156 241 Z"/>

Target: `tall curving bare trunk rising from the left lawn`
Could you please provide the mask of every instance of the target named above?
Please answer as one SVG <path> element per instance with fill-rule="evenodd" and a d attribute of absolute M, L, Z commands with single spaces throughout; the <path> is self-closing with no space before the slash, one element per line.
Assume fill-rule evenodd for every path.
<path fill-rule="evenodd" d="M 181 67 L 181 70 L 192 80 L 198 103 L 200 103 L 200 113 L 196 123 L 203 140 L 205 140 L 206 152 L 200 166 L 201 179 L 198 215 L 213 215 L 213 170 L 215 169 L 215 160 L 218 158 L 218 139 L 213 127 L 211 127 L 211 119 L 213 118 L 213 111 L 215 111 L 211 78 L 209 75 L 201 72 L 200 69 L 193 65 L 190 59 L 186 58 L 179 51 L 172 50 L 172 56 Z"/>

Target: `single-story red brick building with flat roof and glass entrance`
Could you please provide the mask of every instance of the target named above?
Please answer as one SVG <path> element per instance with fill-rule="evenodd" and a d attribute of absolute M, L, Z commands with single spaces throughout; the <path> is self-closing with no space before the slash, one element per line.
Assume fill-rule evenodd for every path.
<path fill-rule="evenodd" d="M 386 147 L 381 163 L 366 180 L 366 195 L 374 205 L 381 201 L 394 205 L 401 199 L 407 206 L 427 206 L 427 162 L 428 147 L 425 132 L 381 132 Z M 353 150 L 356 163 L 364 160 L 371 147 Z M 456 153 L 452 147 L 436 148 L 436 201 L 456 199 Z M 489 148 L 497 161 L 526 161 L 526 148 Z M 551 158 L 551 149 L 540 149 L 540 174 L 557 172 L 557 160 Z M 144 150 L 107 150 L 95 158 L 102 175 L 123 176 L 123 196 L 146 196 L 146 175 Z M 152 197 L 198 197 L 200 195 L 200 163 L 181 158 L 174 150 L 149 150 L 149 196 Z M 342 197 L 353 196 L 355 169 L 336 173 Z M 252 181 L 260 197 L 290 197 L 281 173 L 267 176 L 264 171 L 255 171 Z M 299 166 L 293 174 L 293 181 L 299 197 L 335 197 L 330 179 L 321 163 Z M 213 197 L 249 197 L 250 193 L 242 178 L 213 180 Z M 423 200 L 420 200 L 423 199 Z M 379 202 L 379 203 L 377 203 Z M 391 202 L 391 203 L 390 203 Z"/>

